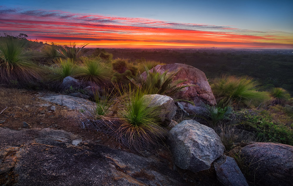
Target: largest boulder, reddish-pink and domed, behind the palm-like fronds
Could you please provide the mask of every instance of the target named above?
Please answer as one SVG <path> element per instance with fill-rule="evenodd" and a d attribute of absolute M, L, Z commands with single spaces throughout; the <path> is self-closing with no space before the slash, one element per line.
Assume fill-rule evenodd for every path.
<path fill-rule="evenodd" d="M 167 65 L 157 65 L 154 67 L 157 72 L 163 73 L 166 70 L 168 72 L 177 72 L 180 70 L 175 76 L 174 80 L 186 80 L 181 83 L 182 85 L 191 85 L 176 93 L 172 97 L 175 99 L 184 99 L 191 101 L 195 104 L 195 106 L 191 105 L 188 102 L 180 102 L 184 109 L 187 112 L 194 112 L 196 114 L 206 114 L 207 109 L 205 104 L 207 105 L 216 105 L 217 102 L 212 93 L 212 89 L 209 86 L 209 82 L 207 81 L 207 77 L 205 73 L 200 71 L 199 69 L 192 67 L 190 65 L 184 65 L 180 63 L 167 64 Z M 151 72 L 153 69 L 151 69 Z M 142 73 L 143 77 L 146 77 L 146 72 Z"/>

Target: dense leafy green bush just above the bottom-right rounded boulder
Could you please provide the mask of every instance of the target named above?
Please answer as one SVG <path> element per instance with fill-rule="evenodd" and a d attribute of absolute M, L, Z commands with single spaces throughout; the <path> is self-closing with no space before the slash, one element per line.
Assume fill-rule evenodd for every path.
<path fill-rule="evenodd" d="M 284 124 L 272 122 L 266 117 L 243 112 L 242 124 L 255 133 L 260 141 L 293 145 L 293 130 Z"/>

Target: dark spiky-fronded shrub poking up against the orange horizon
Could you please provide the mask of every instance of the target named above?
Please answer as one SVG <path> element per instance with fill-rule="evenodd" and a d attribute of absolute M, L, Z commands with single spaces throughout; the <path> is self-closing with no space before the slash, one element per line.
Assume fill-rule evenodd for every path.
<path fill-rule="evenodd" d="M 88 51 L 88 49 L 84 49 L 84 47 L 88 45 L 88 44 L 84 44 L 82 45 L 80 48 L 76 48 L 76 44 L 73 43 L 73 45 L 71 45 L 70 43 L 70 47 L 65 47 L 65 46 L 61 46 L 59 45 L 59 47 L 61 47 L 61 49 L 58 50 L 58 53 L 60 53 L 61 57 L 64 59 L 71 59 L 74 62 L 80 62 L 81 61 L 81 57 Z"/>

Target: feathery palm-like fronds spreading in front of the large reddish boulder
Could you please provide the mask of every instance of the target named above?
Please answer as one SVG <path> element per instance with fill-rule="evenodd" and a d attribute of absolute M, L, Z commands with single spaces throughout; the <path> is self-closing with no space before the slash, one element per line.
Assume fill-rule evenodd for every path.
<path fill-rule="evenodd" d="M 173 95 L 182 90 L 182 88 L 188 87 L 183 85 L 178 85 L 183 83 L 185 80 L 173 81 L 173 77 L 179 72 L 164 72 L 163 74 L 156 72 L 150 72 L 146 68 L 147 77 L 144 78 L 142 75 L 137 76 L 130 81 L 137 87 L 142 88 L 146 94 L 161 94 L 161 95 Z"/>

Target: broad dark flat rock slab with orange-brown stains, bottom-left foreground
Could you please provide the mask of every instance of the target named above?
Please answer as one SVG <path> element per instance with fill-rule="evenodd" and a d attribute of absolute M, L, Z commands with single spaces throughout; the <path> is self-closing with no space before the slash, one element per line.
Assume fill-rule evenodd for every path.
<path fill-rule="evenodd" d="M 0 128 L 0 185 L 186 185 L 168 163 L 52 129 Z"/>

